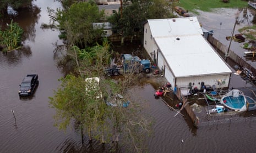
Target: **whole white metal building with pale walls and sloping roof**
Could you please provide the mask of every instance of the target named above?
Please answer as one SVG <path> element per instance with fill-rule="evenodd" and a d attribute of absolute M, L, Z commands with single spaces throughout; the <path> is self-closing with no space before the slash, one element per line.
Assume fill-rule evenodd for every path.
<path fill-rule="evenodd" d="M 172 87 L 229 86 L 232 71 L 206 41 L 195 16 L 148 20 L 143 46 Z"/>

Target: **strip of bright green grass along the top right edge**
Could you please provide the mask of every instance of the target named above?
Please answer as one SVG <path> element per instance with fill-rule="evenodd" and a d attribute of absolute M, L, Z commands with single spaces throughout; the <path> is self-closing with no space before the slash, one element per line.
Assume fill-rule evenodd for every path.
<path fill-rule="evenodd" d="M 179 0 L 177 6 L 183 7 L 189 12 L 197 13 L 196 9 L 204 12 L 210 12 L 214 8 L 244 8 L 247 7 L 247 1 L 242 0 L 229 0 L 230 2 L 224 3 L 222 0 Z"/>

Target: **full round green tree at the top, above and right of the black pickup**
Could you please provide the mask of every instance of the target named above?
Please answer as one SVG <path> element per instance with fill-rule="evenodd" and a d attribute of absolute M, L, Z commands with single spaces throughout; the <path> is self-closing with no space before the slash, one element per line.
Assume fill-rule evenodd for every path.
<path fill-rule="evenodd" d="M 59 28 L 66 31 L 70 44 L 92 43 L 102 35 L 102 30 L 94 30 L 93 22 L 99 22 L 104 12 L 99 12 L 96 4 L 89 2 L 74 3 L 67 10 L 57 10 L 56 20 Z"/>

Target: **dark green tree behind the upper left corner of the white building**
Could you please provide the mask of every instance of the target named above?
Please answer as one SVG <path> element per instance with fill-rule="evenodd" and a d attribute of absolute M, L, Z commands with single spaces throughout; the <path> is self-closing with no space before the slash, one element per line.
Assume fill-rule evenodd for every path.
<path fill-rule="evenodd" d="M 143 36 L 143 26 L 147 19 L 163 19 L 170 18 L 171 12 L 168 3 L 165 0 L 150 1 L 124 1 L 123 9 L 108 18 L 113 25 L 113 29 L 117 30 L 122 36 L 121 44 L 126 37 Z"/>

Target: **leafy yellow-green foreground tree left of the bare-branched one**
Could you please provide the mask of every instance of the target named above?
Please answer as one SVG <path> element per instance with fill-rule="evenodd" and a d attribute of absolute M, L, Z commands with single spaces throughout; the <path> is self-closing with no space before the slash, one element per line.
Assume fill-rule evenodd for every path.
<path fill-rule="evenodd" d="M 56 110 L 55 126 L 66 130 L 74 119 L 90 131 L 99 119 L 96 112 L 106 107 L 99 86 L 95 85 L 98 82 L 95 79 L 85 81 L 84 78 L 73 75 L 61 78 L 60 81 L 61 88 L 55 90 L 54 97 L 49 97 L 50 107 Z"/>

